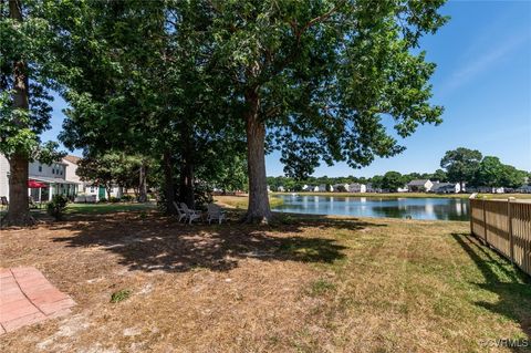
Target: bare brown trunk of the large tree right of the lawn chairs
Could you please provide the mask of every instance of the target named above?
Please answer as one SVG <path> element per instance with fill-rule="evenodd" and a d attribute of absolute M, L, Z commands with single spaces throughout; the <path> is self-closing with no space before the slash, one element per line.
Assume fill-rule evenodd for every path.
<path fill-rule="evenodd" d="M 256 90 L 246 94 L 247 164 L 249 174 L 249 207 L 244 220 L 267 224 L 271 219 L 266 179 L 266 125 L 260 121 L 260 97 Z"/>

